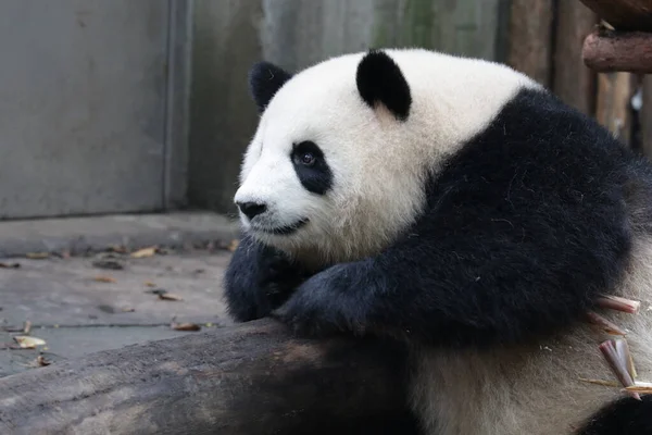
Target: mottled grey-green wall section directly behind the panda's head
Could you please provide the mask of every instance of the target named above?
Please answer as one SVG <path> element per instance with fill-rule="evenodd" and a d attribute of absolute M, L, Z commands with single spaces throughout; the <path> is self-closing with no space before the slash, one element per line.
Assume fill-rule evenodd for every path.
<path fill-rule="evenodd" d="M 196 0 L 189 198 L 234 212 L 256 113 L 251 64 L 297 70 L 369 47 L 418 46 L 503 60 L 502 0 Z"/>

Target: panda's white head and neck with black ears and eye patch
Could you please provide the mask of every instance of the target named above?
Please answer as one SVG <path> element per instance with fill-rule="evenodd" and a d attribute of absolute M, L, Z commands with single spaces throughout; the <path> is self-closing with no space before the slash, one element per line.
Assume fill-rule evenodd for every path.
<path fill-rule="evenodd" d="M 235 195 L 243 229 L 319 264 L 377 252 L 421 213 L 425 181 L 444 157 L 523 80 L 416 49 L 346 54 L 298 74 L 254 65 L 261 117 Z"/>

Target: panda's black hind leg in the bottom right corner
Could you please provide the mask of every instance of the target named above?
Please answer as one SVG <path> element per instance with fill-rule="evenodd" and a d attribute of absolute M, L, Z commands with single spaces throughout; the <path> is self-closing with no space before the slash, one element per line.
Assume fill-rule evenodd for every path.
<path fill-rule="evenodd" d="M 623 398 L 607 405 L 580 427 L 577 435 L 652 434 L 652 396 Z"/>

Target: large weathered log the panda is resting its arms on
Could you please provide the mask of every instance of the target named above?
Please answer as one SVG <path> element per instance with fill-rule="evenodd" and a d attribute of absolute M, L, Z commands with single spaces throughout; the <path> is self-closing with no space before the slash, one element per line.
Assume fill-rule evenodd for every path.
<path fill-rule="evenodd" d="M 404 351 L 261 320 L 0 380 L 2 434 L 412 433 Z"/>

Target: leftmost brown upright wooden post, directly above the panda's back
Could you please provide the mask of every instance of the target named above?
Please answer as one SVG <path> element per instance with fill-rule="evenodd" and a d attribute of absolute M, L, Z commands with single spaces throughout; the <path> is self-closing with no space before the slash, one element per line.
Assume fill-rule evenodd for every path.
<path fill-rule="evenodd" d="M 543 86 L 551 83 L 553 0 L 512 0 L 507 64 Z"/>

